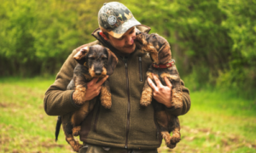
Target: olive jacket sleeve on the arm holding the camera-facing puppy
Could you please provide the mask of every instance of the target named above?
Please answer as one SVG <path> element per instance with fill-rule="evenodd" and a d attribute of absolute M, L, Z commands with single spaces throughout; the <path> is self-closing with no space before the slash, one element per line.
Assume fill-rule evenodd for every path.
<path fill-rule="evenodd" d="M 67 90 L 67 84 L 73 78 L 73 69 L 77 64 L 70 54 L 58 72 L 55 82 L 48 88 L 44 95 L 44 111 L 49 116 L 62 116 L 79 108 L 73 103 L 73 90 Z"/>

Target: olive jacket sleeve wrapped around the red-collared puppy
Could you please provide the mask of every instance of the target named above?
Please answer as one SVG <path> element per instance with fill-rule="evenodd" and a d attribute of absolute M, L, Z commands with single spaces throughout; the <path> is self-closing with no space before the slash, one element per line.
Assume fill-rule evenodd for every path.
<path fill-rule="evenodd" d="M 184 115 L 190 109 L 191 100 L 190 100 L 190 96 L 189 96 L 189 89 L 185 88 L 184 82 L 182 80 L 181 80 L 181 88 L 182 88 L 182 91 L 183 91 L 183 107 L 179 108 L 179 109 L 174 109 L 174 107 L 166 108 L 166 112 L 170 113 L 173 116 Z"/>

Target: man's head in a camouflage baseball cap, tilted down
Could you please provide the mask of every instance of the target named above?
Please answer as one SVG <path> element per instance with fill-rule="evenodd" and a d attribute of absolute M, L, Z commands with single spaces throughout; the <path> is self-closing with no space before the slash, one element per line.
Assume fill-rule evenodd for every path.
<path fill-rule="evenodd" d="M 122 3 L 104 3 L 98 14 L 102 37 L 122 54 L 135 50 L 135 26 L 141 25 Z M 105 34 L 105 35 L 104 35 Z"/>

